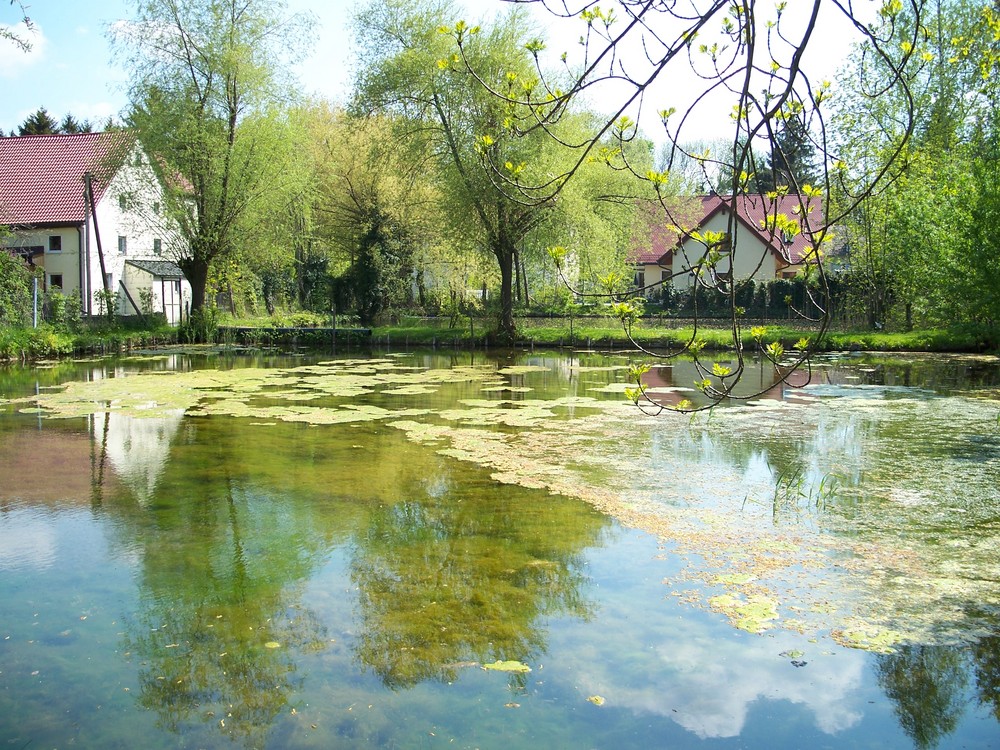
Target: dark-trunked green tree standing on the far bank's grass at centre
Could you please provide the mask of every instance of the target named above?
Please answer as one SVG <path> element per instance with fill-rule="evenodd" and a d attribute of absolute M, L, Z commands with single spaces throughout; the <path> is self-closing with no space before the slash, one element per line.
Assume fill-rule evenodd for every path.
<path fill-rule="evenodd" d="M 453 13 L 441 0 L 369 5 L 358 17 L 362 65 L 354 109 L 392 114 L 405 123 L 403 137 L 429 144 L 453 233 L 496 262 L 498 332 L 513 340 L 517 260 L 556 207 L 554 198 L 525 200 L 516 188 L 548 183 L 574 155 L 544 132 L 513 133 L 510 124 L 527 117 L 531 105 L 480 85 L 488 81 L 518 95 L 542 85 L 529 50 L 528 15 L 515 7 L 492 24 L 466 27 L 453 25 Z M 465 40 L 464 60 L 476 76 L 456 54 L 452 34 Z M 567 126 L 565 114 L 553 131 Z"/>

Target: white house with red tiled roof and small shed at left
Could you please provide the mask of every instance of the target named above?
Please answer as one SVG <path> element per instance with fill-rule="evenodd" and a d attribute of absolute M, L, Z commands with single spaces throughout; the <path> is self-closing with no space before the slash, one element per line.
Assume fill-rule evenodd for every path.
<path fill-rule="evenodd" d="M 0 248 L 43 269 L 46 290 L 103 312 L 180 322 L 191 288 L 156 171 L 129 131 L 0 138 Z M 145 309 L 144 309 L 145 308 Z"/>

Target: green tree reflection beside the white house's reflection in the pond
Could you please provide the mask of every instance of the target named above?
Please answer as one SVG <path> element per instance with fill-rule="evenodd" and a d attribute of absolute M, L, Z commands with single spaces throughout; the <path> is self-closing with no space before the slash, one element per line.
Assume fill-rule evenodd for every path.
<path fill-rule="evenodd" d="M 335 531 L 314 488 L 269 476 L 273 443 L 211 427 L 188 426 L 146 507 L 116 509 L 140 559 L 124 648 L 165 729 L 204 723 L 259 746 L 300 685 L 300 653 L 328 640 L 300 599 Z"/>

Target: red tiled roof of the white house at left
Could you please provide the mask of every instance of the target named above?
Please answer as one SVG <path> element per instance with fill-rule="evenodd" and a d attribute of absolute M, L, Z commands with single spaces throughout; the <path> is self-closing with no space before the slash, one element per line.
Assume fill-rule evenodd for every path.
<path fill-rule="evenodd" d="M 0 224 L 82 224 L 84 174 L 99 203 L 133 142 L 122 130 L 0 138 Z"/>

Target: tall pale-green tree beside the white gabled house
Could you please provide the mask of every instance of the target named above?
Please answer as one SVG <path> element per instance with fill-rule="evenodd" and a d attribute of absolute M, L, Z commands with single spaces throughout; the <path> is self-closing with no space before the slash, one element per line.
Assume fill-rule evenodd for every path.
<path fill-rule="evenodd" d="M 239 222 L 285 174 L 283 71 L 307 45 L 306 17 L 280 0 L 135 0 L 114 30 L 129 71 L 129 124 L 167 188 L 184 246 L 176 260 L 205 303 Z"/>

